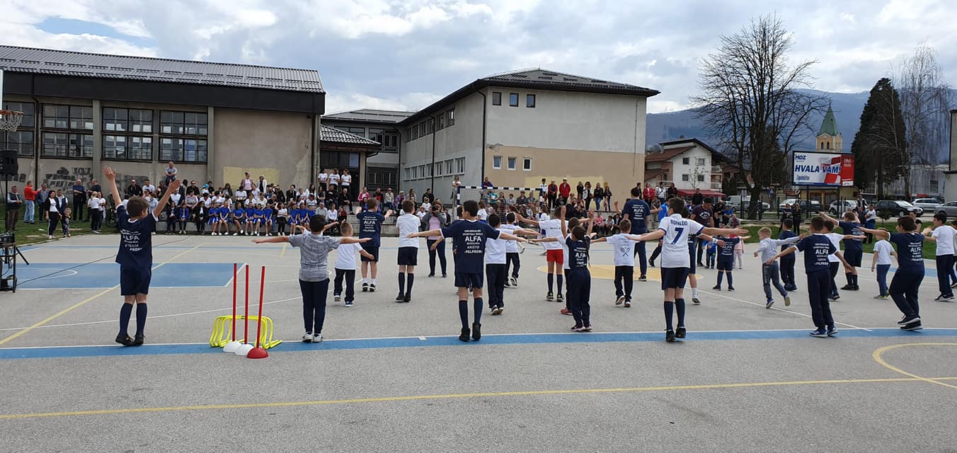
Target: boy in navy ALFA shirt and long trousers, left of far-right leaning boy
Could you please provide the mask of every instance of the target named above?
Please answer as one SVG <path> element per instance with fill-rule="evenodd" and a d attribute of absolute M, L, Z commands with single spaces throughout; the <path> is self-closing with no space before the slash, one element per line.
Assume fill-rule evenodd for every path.
<path fill-rule="evenodd" d="M 831 262 L 828 261 L 829 255 L 835 255 L 838 260 L 844 263 L 844 269 L 851 271 L 851 265 L 844 260 L 840 250 L 837 250 L 835 244 L 824 235 L 824 218 L 815 216 L 811 219 L 811 236 L 798 240 L 794 247 L 789 247 L 779 252 L 767 264 L 774 262 L 781 257 L 794 253 L 795 250 L 804 252 L 804 270 L 808 274 L 808 299 L 811 302 L 811 317 L 814 320 L 816 329 L 811 332 L 811 336 L 817 338 L 827 338 L 837 333 L 834 317 L 831 315 L 831 304 L 828 296 L 831 295 Z"/>

